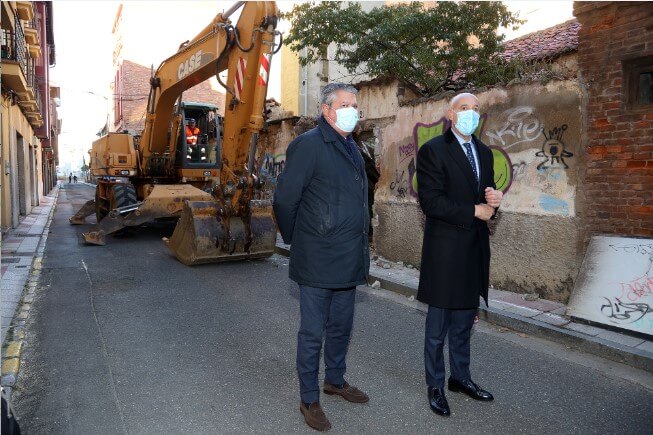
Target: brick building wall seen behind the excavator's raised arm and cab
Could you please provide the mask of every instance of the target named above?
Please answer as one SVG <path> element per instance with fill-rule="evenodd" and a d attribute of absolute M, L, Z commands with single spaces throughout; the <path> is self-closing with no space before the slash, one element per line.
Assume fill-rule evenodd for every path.
<path fill-rule="evenodd" d="M 130 130 L 141 132 L 145 127 L 145 110 L 147 96 L 150 92 L 150 68 L 124 60 L 122 63 L 122 122 L 114 131 Z M 204 81 L 184 92 L 184 101 L 211 103 L 220 108 L 224 114 L 225 95 L 211 88 L 210 82 Z"/>

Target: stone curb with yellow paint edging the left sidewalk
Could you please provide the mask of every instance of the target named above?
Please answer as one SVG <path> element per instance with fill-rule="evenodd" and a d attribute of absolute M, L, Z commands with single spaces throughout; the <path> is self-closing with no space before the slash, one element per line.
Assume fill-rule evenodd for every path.
<path fill-rule="evenodd" d="M 29 277 L 23 288 L 23 296 L 21 303 L 17 306 L 14 318 L 11 325 L 7 330 L 5 343 L 2 347 L 2 388 L 11 398 L 13 388 L 18 380 L 21 367 L 21 357 L 25 347 L 28 345 L 25 340 L 25 324 L 29 319 L 32 302 L 36 293 L 36 287 L 41 275 L 41 267 L 43 263 L 43 252 L 45 251 L 45 244 L 50 232 L 50 224 L 54 216 L 54 211 L 57 208 L 57 200 L 59 199 L 60 184 L 55 187 L 56 192 L 53 197 L 52 208 L 48 214 L 48 221 L 43 227 L 43 232 L 39 237 L 39 243 L 34 252 L 32 265 L 29 272 Z"/>

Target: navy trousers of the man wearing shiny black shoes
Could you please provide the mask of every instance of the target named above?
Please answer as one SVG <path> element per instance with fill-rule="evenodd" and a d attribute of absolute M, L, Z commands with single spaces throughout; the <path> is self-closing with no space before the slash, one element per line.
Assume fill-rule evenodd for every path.
<path fill-rule="evenodd" d="M 471 379 L 469 341 L 476 308 L 449 310 L 429 306 L 424 336 L 426 385 L 444 388 L 444 340 L 449 335 L 449 370 L 458 380 Z"/>

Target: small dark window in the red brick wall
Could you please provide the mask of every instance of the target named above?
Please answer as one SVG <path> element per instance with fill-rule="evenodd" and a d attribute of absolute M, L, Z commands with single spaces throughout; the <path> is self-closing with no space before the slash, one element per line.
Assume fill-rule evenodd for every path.
<path fill-rule="evenodd" d="M 653 56 L 623 62 L 627 110 L 653 110 Z"/>

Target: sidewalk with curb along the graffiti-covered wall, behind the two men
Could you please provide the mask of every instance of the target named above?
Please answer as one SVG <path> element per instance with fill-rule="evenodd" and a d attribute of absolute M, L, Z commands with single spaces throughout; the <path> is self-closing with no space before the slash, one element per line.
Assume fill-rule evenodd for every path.
<path fill-rule="evenodd" d="M 290 254 L 290 246 L 281 237 L 277 237 L 276 252 Z M 370 264 L 369 280 L 372 288 L 390 290 L 412 301 L 417 296 L 419 271 L 401 262 L 378 258 Z M 653 341 L 572 321 L 565 315 L 567 306 L 559 302 L 529 301 L 523 294 L 489 290 L 489 307 L 483 301 L 479 306 L 481 319 L 653 372 Z"/>

